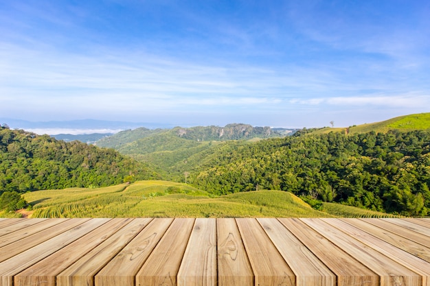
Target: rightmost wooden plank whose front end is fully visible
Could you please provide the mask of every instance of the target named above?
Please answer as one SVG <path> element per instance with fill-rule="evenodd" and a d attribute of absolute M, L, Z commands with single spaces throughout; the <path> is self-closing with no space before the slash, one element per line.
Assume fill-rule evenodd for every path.
<path fill-rule="evenodd" d="M 337 228 L 332 228 L 321 219 L 301 220 L 378 274 L 381 286 L 421 285 L 422 276 L 416 272 L 396 263 L 389 257 L 385 257 L 385 255 L 346 235 Z"/>

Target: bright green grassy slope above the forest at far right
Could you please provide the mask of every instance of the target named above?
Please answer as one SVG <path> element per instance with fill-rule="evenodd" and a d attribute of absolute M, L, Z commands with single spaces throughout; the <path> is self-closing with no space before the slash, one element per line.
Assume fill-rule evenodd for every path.
<path fill-rule="evenodd" d="M 387 132 L 388 130 L 425 130 L 430 128 L 430 112 L 418 113 L 414 115 L 405 115 L 394 117 L 381 122 L 362 124 L 348 128 L 348 134 L 365 133 L 365 132 Z M 312 134 L 324 134 L 328 132 L 346 132 L 346 128 L 322 128 Z"/>

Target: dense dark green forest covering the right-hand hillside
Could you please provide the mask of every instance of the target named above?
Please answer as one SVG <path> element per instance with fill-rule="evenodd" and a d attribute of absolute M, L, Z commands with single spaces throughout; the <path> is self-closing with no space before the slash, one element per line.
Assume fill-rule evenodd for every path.
<path fill-rule="evenodd" d="M 403 215 L 430 210 L 430 132 L 312 135 L 231 142 L 190 167 L 188 182 L 216 194 L 280 189 Z M 192 158 L 188 160 L 192 162 Z"/>

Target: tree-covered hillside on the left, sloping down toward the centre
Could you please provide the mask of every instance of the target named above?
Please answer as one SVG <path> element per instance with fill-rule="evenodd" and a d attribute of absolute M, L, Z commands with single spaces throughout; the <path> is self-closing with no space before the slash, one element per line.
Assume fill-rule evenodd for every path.
<path fill-rule="evenodd" d="M 128 176 L 155 174 L 115 150 L 0 126 L 0 193 L 109 186 Z"/>

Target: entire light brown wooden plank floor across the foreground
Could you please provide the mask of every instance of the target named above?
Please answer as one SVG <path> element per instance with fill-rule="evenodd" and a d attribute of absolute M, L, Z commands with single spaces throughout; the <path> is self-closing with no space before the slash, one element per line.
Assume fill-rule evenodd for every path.
<path fill-rule="evenodd" d="M 426 285 L 430 219 L 0 219 L 0 285 Z"/>

